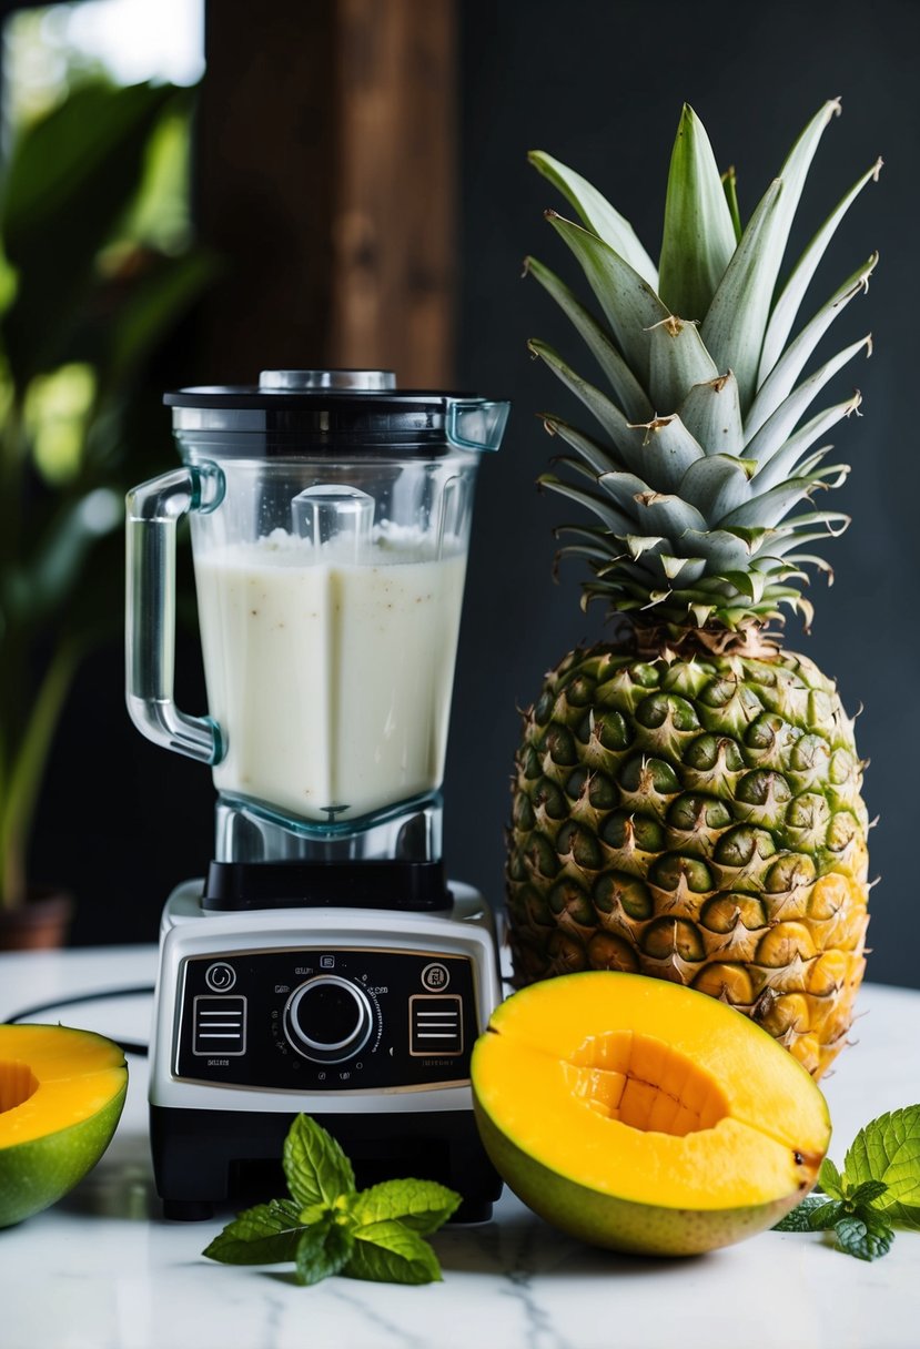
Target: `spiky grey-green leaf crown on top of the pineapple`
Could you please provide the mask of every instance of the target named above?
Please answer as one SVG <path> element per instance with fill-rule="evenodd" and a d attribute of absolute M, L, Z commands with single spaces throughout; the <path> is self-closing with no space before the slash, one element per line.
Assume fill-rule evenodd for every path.
<path fill-rule="evenodd" d="M 594 515 L 564 525 L 558 557 L 587 560 L 583 607 L 606 600 L 634 626 L 664 630 L 672 645 L 749 641 L 781 606 L 801 614 L 805 567 L 828 564 L 803 550 L 850 523 L 813 509 L 817 488 L 838 487 L 846 464 L 826 464 L 822 437 L 857 411 L 858 391 L 805 420 L 812 402 L 871 337 L 803 371 L 834 320 L 869 286 L 878 254 L 858 267 L 815 316 L 789 335 L 824 251 L 847 209 L 882 166 L 850 188 L 780 283 L 780 270 L 819 140 L 840 111 L 828 100 L 789 151 L 746 225 L 735 171 L 720 173 L 706 130 L 684 105 L 670 158 L 658 267 L 633 227 L 583 177 L 542 151 L 530 163 L 571 202 L 580 224 L 546 212 L 581 266 L 603 318 L 548 267 L 534 277 L 572 321 L 604 387 L 576 374 L 546 343 L 530 351 L 588 409 L 592 434 L 541 413 L 575 452 L 540 483 Z M 598 430 L 599 428 L 599 430 Z M 817 448 L 815 448 L 817 445 Z M 585 484 L 587 479 L 587 484 Z M 805 509 L 801 507 L 807 503 Z"/>

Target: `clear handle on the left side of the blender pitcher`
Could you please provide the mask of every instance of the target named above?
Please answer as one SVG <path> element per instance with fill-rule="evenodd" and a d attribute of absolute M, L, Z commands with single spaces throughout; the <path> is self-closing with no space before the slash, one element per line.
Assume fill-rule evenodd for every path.
<path fill-rule="evenodd" d="M 138 730 L 201 764 L 224 757 L 220 726 L 173 700 L 175 679 L 175 532 L 190 511 L 212 511 L 224 475 L 210 461 L 183 465 L 125 496 L 125 701 Z"/>

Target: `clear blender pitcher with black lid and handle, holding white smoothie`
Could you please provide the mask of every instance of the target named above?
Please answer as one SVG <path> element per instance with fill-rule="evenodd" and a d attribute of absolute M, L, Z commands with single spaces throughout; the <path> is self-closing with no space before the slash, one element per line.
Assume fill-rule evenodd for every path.
<path fill-rule="evenodd" d="M 127 706 L 212 766 L 217 861 L 393 857 L 410 816 L 436 834 L 473 484 L 509 405 L 389 371 L 165 402 L 182 467 L 128 495 Z M 205 715 L 173 696 L 185 515 Z"/>

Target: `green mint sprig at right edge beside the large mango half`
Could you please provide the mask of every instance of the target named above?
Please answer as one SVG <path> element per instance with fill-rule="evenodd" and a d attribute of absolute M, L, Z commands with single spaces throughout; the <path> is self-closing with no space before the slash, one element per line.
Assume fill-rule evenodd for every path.
<path fill-rule="evenodd" d="M 878 1260 L 890 1251 L 896 1226 L 920 1230 L 920 1105 L 865 1125 L 847 1151 L 843 1172 L 826 1157 L 817 1193 L 773 1230 L 832 1230 L 838 1251 Z"/>

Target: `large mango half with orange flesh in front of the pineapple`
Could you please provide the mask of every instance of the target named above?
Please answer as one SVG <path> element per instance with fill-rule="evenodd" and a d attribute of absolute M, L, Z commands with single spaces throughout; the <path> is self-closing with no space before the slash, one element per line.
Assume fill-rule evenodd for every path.
<path fill-rule="evenodd" d="M 741 1012 L 666 979 L 557 975 L 502 1002 L 472 1054 L 492 1164 L 592 1245 L 699 1255 L 773 1226 L 831 1139 L 811 1075 Z"/>

